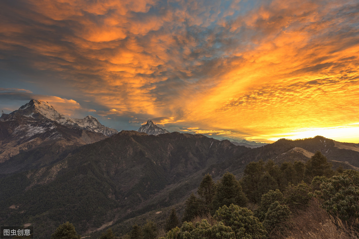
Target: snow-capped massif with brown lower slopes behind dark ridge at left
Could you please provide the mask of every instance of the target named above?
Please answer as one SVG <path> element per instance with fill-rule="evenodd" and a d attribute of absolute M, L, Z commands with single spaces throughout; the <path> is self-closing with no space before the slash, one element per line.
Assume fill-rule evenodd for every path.
<path fill-rule="evenodd" d="M 65 117 L 47 102 L 31 100 L 0 117 L 0 176 L 54 163 L 115 133 L 92 116 Z"/>

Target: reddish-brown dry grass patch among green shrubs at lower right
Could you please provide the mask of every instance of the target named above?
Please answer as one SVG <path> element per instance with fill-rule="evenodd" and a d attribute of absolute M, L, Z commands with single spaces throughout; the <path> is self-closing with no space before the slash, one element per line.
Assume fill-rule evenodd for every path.
<path fill-rule="evenodd" d="M 306 210 L 298 211 L 286 223 L 284 232 L 273 231 L 269 238 L 275 239 L 350 239 L 343 231 L 337 230 L 318 201 L 312 199 Z"/>

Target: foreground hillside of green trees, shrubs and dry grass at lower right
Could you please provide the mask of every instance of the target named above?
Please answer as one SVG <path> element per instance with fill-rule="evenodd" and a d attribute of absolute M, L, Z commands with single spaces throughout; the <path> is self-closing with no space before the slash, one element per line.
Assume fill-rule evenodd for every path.
<path fill-rule="evenodd" d="M 186 200 L 182 220 L 173 208 L 164 228 L 147 221 L 123 238 L 357 238 L 359 172 L 331 166 L 317 151 L 306 164 L 251 162 L 239 181 L 229 172 L 218 182 L 207 174 Z M 100 239 L 115 234 L 108 229 Z"/>

